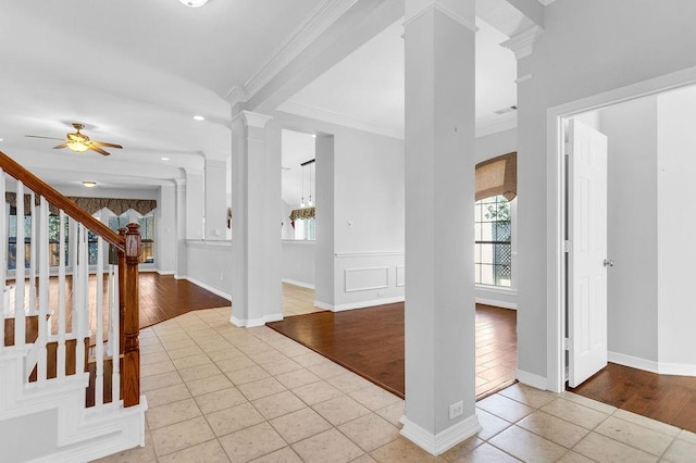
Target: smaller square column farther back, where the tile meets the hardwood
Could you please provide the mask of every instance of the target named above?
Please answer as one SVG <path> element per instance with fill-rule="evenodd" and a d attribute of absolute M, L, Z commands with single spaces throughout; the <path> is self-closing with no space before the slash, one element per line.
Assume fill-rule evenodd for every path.
<path fill-rule="evenodd" d="M 231 322 L 237 326 L 283 318 L 281 153 L 266 140 L 264 127 L 270 120 L 241 111 L 232 125 Z"/>

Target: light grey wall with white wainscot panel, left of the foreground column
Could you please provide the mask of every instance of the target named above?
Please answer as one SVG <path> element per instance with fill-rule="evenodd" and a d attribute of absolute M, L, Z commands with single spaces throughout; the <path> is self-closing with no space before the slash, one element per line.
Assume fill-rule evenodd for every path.
<path fill-rule="evenodd" d="M 323 165 L 319 147 L 331 137 L 316 138 L 314 283 L 320 305 L 344 310 L 402 300 L 403 141 L 284 113 L 276 113 L 269 126 L 333 136 L 333 153 Z M 331 224 L 322 223 L 322 215 Z M 326 233 L 332 237 L 322 242 Z"/>

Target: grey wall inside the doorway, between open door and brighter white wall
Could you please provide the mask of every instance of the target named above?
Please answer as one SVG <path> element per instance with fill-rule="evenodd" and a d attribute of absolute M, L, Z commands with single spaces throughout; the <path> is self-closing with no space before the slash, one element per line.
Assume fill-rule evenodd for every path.
<path fill-rule="evenodd" d="M 612 355 L 657 362 L 657 97 L 594 112 L 608 137 L 607 336 Z M 636 366 L 635 364 L 632 366 Z"/>

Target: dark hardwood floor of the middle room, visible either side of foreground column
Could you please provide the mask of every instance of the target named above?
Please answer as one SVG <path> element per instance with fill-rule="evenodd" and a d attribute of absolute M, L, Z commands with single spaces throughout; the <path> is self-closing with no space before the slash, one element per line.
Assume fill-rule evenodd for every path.
<path fill-rule="evenodd" d="M 476 397 L 514 383 L 517 314 L 476 306 Z M 403 303 L 286 317 L 268 326 L 403 398 Z"/>

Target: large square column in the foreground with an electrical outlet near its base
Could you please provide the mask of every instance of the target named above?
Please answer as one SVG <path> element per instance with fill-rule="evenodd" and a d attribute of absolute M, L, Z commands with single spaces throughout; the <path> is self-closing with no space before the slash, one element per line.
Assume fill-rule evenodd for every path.
<path fill-rule="evenodd" d="M 475 414 L 474 0 L 406 1 L 406 416 L 439 454 Z"/>

